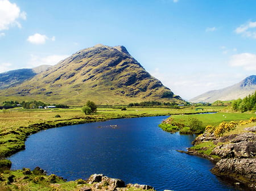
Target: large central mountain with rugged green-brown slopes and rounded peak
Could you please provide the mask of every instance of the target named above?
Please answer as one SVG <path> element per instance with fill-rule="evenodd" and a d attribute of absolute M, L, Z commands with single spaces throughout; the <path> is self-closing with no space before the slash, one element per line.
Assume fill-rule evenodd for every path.
<path fill-rule="evenodd" d="M 0 92 L 3 99 L 35 99 L 84 105 L 183 100 L 152 77 L 124 46 L 96 45 L 72 54 L 55 66 Z"/>

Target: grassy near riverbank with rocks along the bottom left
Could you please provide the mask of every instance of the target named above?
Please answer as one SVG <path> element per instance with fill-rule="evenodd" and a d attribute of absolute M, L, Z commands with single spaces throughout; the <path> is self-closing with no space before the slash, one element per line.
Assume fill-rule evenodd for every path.
<path fill-rule="evenodd" d="M 47 172 L 36 167 L 33 171 L 23 168 L 17 171 L 0 172 L 0 190 L 30 190 L 30 191 L 142 191 L 154 188 L 149 185 L 125 184 L 120 179 L 110 178 L 104 175 L 92 175 L 88 180 L 67 181 L 63 177 L 47 175 Z"/>

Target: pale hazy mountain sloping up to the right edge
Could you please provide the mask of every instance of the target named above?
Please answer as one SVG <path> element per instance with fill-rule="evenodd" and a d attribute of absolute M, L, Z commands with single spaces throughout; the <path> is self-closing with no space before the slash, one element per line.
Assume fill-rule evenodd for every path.
<path fill-rule="evenodd" d="M 256 75 L 250 75 L 243 79 L 240 83 L 234 84 L 221 90 L 208 91 L 193 99 L 189 100 L 193 103 L 209 102 L 213 103 L 216 100 L 229 101 L 238 98 L 243 98 L 253 94 L 256 91 Z"/>

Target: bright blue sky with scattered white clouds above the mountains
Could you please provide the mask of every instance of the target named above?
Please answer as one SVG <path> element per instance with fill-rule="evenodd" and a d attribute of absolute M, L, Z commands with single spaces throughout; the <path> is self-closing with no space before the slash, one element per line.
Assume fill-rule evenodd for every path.
<path fill-rule="evenodd" d="M 123 45 L 191 99 L 256 73 L 254 0 L 0 0 L 0 73 Z"/>

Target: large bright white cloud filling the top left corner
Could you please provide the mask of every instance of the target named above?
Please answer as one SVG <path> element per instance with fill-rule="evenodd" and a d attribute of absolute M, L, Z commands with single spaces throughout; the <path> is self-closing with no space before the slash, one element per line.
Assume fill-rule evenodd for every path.
<path fill-rule="evenodd" d="M 7 30 L 9 27 L 21 27 L 18 19 L 26 20 L 26 12 L 20 12 L 15 3 L 8 0 L 0 0 L 0 31 Z"/>

